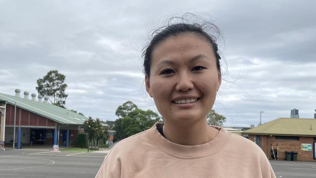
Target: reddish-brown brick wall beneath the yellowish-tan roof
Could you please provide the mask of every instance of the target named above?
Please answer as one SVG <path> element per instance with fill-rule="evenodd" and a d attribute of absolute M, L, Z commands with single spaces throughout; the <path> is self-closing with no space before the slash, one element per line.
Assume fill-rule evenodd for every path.
<path fill-rule="evenodd" d="M 255 135 L 249 135 L 249 140 L 254 142 Z M 312 144 L 312 151 L 301 151 L 301 143 Z M 313 137 L 299 137 L 297 140 L 277 140 L 275 136 L 262 136 L 263 152 L 271 159 L 271 145 L 274 149 L 279 147 L 279 160 L 285 160 L 285 151 L 294 151 L 298 153 L 298 161 L 316 161 L 314 160 L 314 139 Z"/>

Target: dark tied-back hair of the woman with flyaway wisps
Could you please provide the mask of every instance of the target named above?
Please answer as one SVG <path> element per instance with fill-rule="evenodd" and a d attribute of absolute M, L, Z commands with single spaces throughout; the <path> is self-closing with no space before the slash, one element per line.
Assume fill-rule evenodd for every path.
<path fill-rule="evenodd" d="M 196 23 L 196 22 L 190 23 L 188 22 L 189 21 L 187 19 L 188 17 L 194 18 L 195 21 L 202 19 L 194 14 L 186 13 L 182 17 L 170 18 L 167 21 L 166 25 L 152 32 L 151 34 L 152 39 L 142 50 L 142 57 L 144 58 L 144 63 L 143 63 L 144 71 L 143 72 L 145 75 L 147 75 L 148 77 L 150 76 L 151 58 L 152 58 L 152 53 L 155 47 L 170 36 L 179 36 L 185 33 L 194 33 L 195 35 L 205 38 L 211 44 L 211 47 L 216 57 L 217 71 L 221 72 L 221 65 L 220 65 L 221 56 L 219 55 L 219 51 L 218 51 L 218 47 L 216 43 L 217 38 L 221 36 L 219 28 L 213 23 L 210 23 L 204 19 L 202 19 L 202 22 L 200 23 Z M 180 19 L 182 22 L 172 23 L 172 21 L 175 19 L 176 20 Z M 211 30 L 216 36 L 209 35 L 206 32 L 208 30 Z"/>

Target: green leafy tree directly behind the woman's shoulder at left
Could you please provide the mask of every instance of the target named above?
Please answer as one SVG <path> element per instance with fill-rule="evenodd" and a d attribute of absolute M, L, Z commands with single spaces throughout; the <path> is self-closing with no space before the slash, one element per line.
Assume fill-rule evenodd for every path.
<path fill-rule="evenodd" d="M 149 129 L 161 120 L 158 114 L 151 110 L 141 110 L 130 101 L 128 101 L 128 105 L 124 104 L 118 107 L 119 112 L 116 112 L 119 113 L 117 114 L 119 119 L 114 124 L 114 129 L 116 130 L 115 141 Z"/>

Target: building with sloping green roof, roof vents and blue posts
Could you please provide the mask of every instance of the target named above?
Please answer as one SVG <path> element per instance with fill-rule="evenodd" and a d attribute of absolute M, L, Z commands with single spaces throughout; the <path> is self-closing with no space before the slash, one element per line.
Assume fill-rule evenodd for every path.
<path fill-rule="evenodd" d="M 30 99 L 27 91 L 21 98 L 19 89 L 15 96 L 0 93 L 0 142 L 12 145 L 15 140 L 17 149 L 21 144 L 76 145 L 78 132 L 88 118 L 44 99 L 39 95 L 36 100 L 34 93 Z"/>

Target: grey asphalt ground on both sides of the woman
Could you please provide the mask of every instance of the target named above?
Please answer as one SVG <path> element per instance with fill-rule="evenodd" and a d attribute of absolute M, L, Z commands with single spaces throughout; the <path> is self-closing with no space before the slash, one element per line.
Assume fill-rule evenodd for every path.
<path fill-rule="evenodd" d="M 94 178 L 106 153 L 0 150 L 0 178 Z M 277 178 L 316 178 L 316 162 L 270 160 Z"/>

